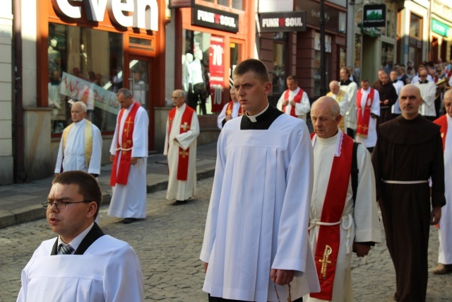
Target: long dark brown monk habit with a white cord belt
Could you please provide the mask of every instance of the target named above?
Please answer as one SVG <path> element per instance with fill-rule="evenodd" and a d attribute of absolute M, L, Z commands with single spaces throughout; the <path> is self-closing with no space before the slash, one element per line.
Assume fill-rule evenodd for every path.
<path fill-rule="evenodd" d="M 398 301 L 425 301 L 430 228 L 429 183 L 388 184 L 382 180 L 432 178 L 432 207 L 446 204 L 439 126 L 421 115 L 380 125 L 372 163 L 386 245 L 396 269 Z"/>

